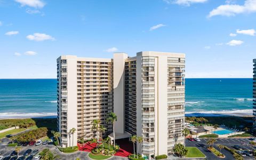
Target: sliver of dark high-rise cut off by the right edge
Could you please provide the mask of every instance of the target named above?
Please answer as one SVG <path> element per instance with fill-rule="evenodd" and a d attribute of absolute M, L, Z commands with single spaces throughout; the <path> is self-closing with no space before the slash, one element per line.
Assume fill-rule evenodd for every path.
<path fill-rule="evenodd" d="M 253 132 L 256 133 L 256 59 L 253 59 Z"/>

